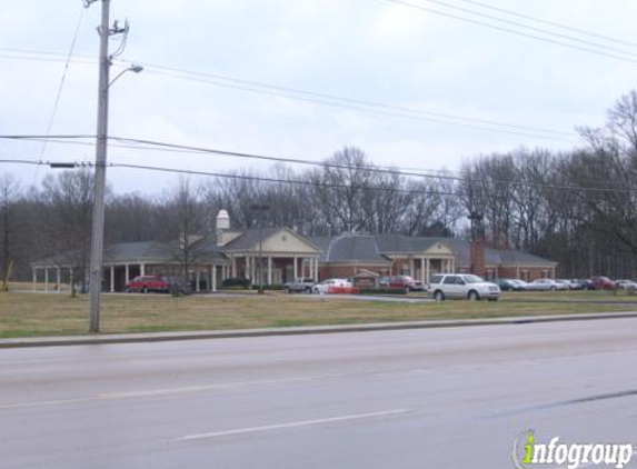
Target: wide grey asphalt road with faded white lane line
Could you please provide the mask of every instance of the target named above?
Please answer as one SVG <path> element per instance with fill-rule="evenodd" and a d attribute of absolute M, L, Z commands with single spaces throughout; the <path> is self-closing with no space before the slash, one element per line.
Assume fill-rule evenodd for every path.
<path fill-rule="evenodd" d="M 0 468 L 499 469 L 529 428 L 637 442 L 636 331 L 609 319 L 0 350 Z"/>

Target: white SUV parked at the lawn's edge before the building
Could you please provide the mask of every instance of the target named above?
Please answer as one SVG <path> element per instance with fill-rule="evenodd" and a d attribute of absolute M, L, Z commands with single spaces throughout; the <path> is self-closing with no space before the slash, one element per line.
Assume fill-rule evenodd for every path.
<path fill-rule="evenodd" d="M 468 300 L 488 299 L 497 301 L 500 298 L 500 287 L 485 281 L 470 273 L 439 273 L 431 277 L 429 291 L 436 301 L 446 298 L 467 298 Z"/>

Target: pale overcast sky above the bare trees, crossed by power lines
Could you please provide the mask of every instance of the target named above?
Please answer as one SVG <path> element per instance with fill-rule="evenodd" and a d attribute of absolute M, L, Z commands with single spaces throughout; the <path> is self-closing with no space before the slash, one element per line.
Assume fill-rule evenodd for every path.
<path fill-rule="evenodd" d="M 146 70 L 122 76 L 111 88 L 109 132 L 308 160 L 326 158 L 344 146 L 357 146 L 378 164 L 454 170 L 464 159 L 480 153 L 580 146 L 576 127 L 603 124 L 606 110 L 636 87 L 636 1 L 405 2 L 429 10 L 387 0 L 112 0 L 112 19 L 130 21 L 128 44 L 120 58 Z M 531 22 L 485 6 L 616 41 Z M 88 9 L 81 0 L 0 2 L 0 133 L 47 132 L 64 57 L 79 22 L 74 57 L 50 133 L 94 134 L 99 20 L 99 1 Z M 549 37 L 546 31 L 563 37 Z M 117 44 L 111 41 L 111 49 Z M 189 73 L 176 77 L 160 67 Z M 123 68 L 126 64 L 117 62 L 111 77 Z M 390 108 L 370 112 L 360 109 L 369 109 L 367 104 L 316 94 L 290 99 L 281 96 L 290 96 L 287 91 L 237 80 L 420 113 L 408 116 L 406 110 Z M 238 84 L 243 89 L 237 89 Z M 94 150 L 61 143 L 44 149 L 38 142 L 0 140 L 0 159 L 6 158 L 91 161 Z M 109 150 L 109 161 L 203 171 L 268 166 L 219 156 L 115 147 Z M 20 174 L 27 186 L 51 171 L 7 164 L 2 170 Z M 170 186 L 176 177 L 113 168 L 108 180 L 119 192 L 152 193 Z"/>

